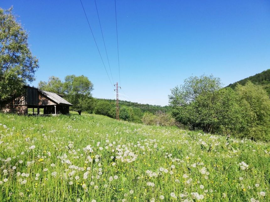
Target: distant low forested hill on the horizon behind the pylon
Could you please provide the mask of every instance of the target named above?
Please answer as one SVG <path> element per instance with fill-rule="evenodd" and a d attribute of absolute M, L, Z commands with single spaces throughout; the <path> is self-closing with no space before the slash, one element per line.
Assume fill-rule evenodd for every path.
<path fill-rule="evenodd" d="M 110 102 L 111 104 L 115 104 L 116 100 L 112 99 L 99 99 L 95 98 L 98 101 L 107 101 Z M 159 105 L 149 105 L 149 104 L 140 104 L 137 102 L 131 102 L 131 101 L 122 101 L 119 100 L 119 106 L 128 106 L 128 107 L 134 107 L 134 108 L 140 108 L 143 112 L 149 111 L 151 113 L 155 113 L 156 111 L 170 111 L 170 106 L 159 106 Z"/>

